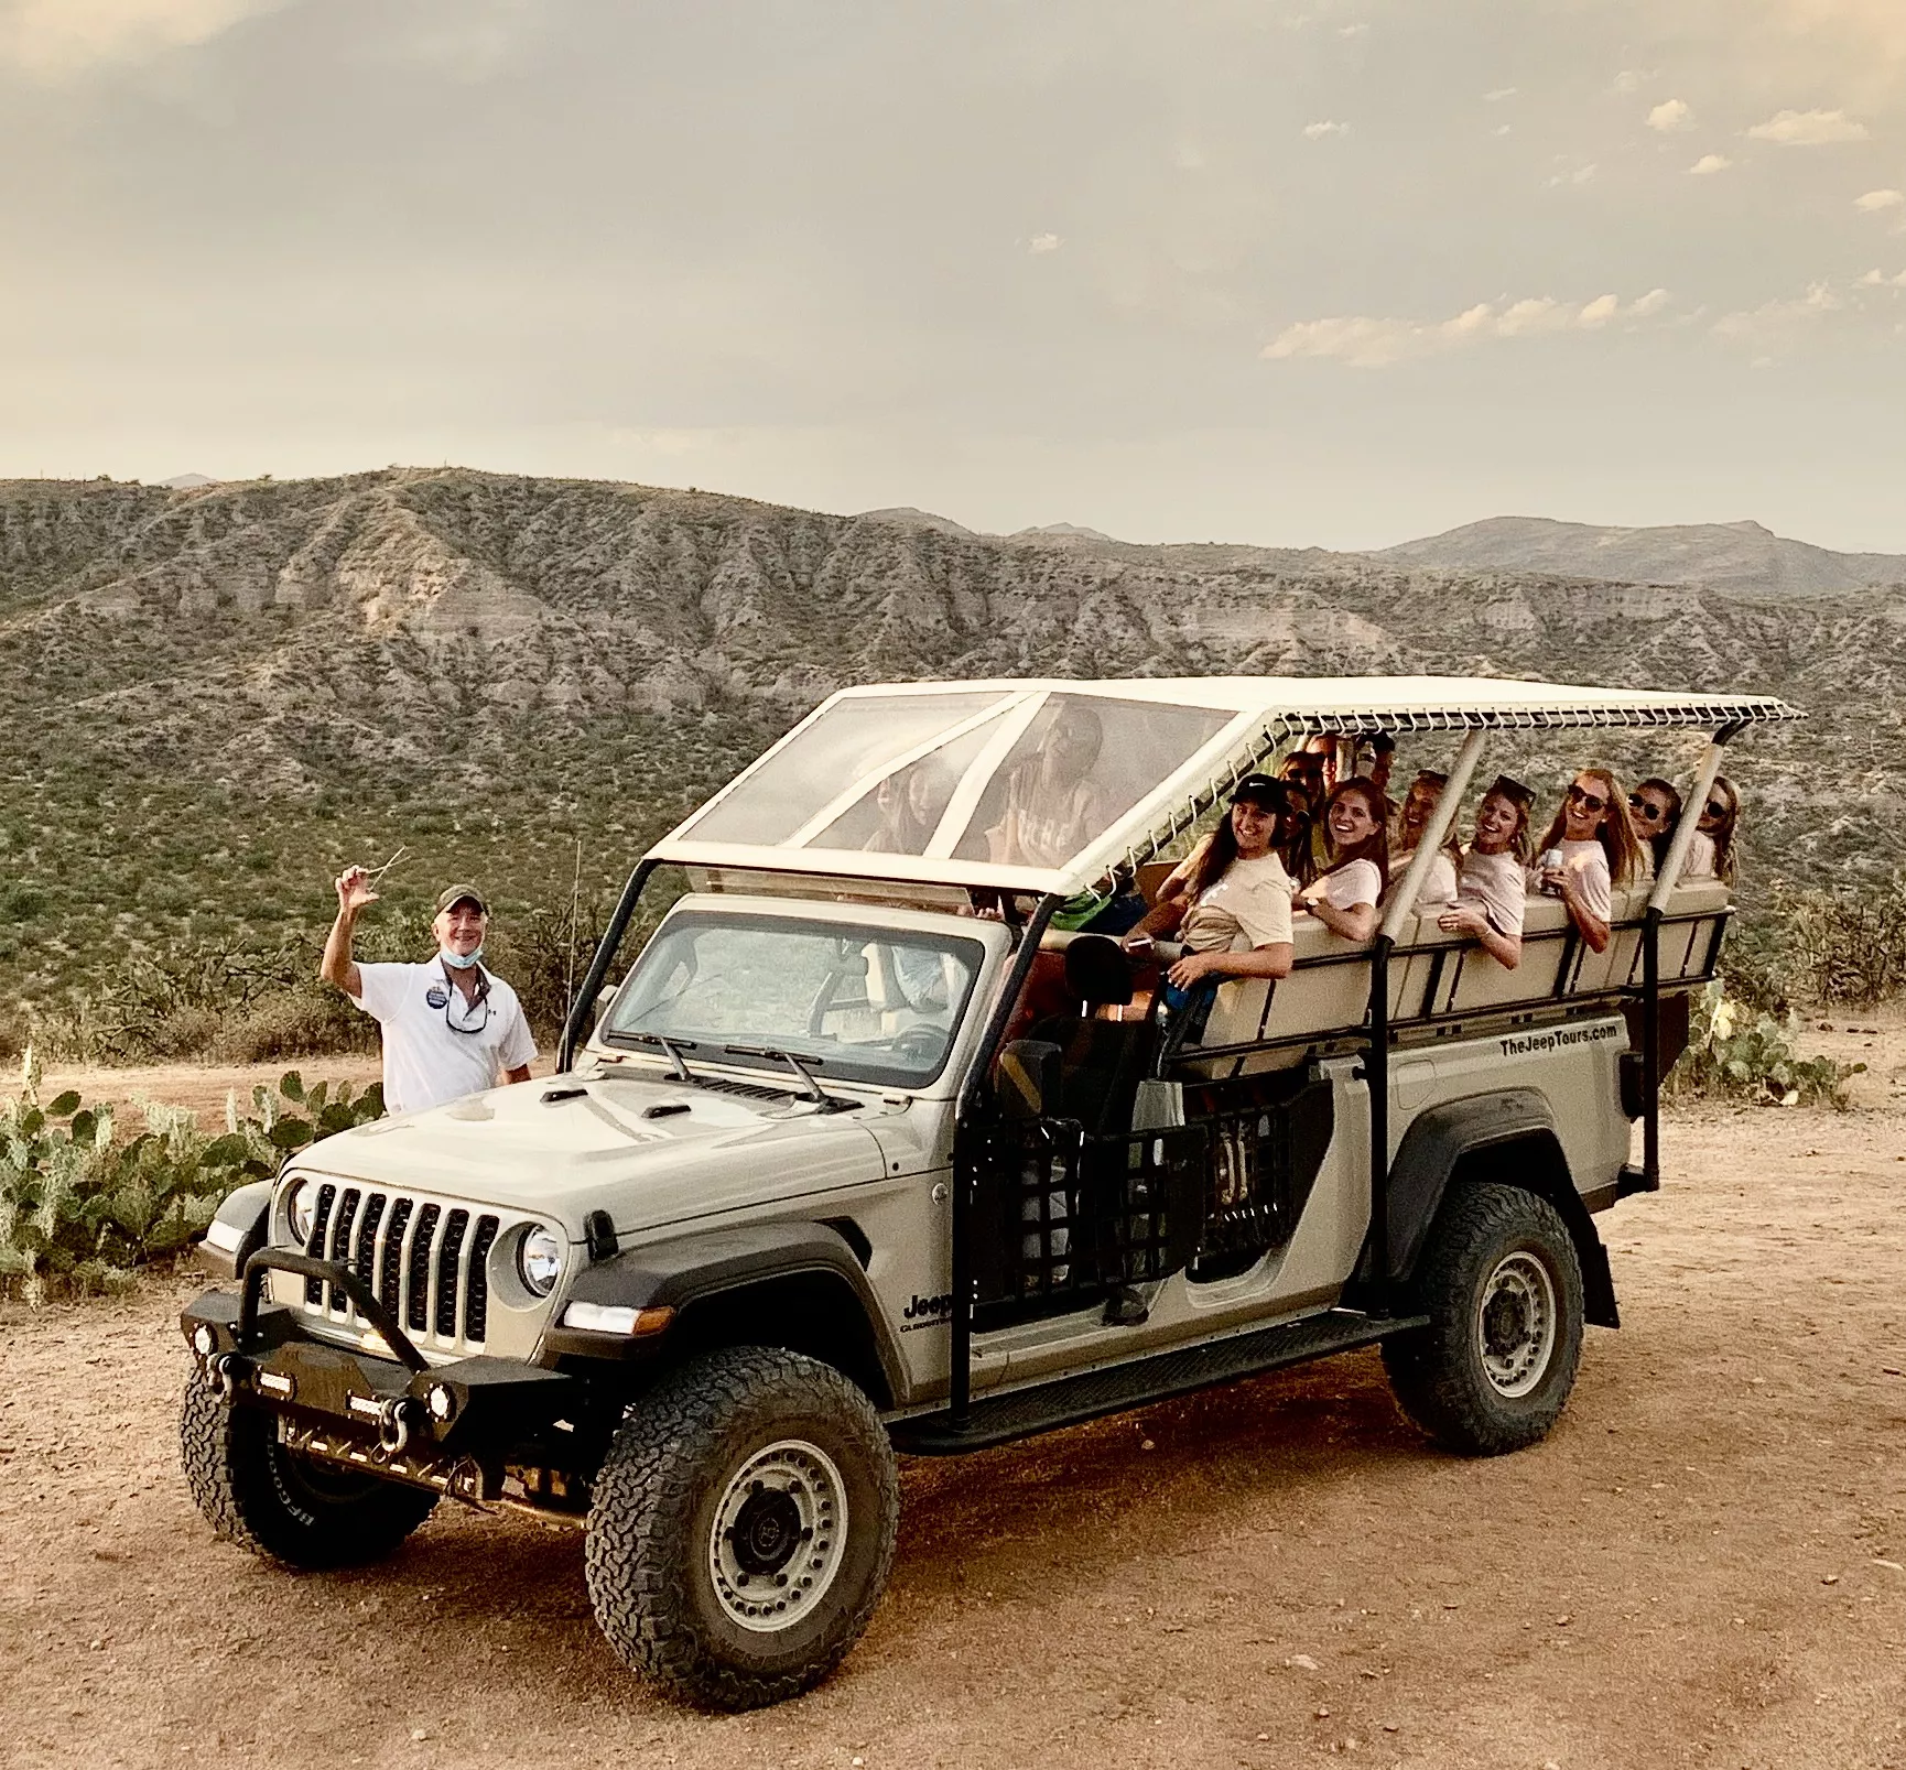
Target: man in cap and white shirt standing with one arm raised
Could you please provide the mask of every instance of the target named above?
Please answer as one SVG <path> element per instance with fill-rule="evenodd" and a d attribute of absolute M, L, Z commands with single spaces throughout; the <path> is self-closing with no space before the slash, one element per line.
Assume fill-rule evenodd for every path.
<path fill-rule="evenodd" d="M 503 1082 L 526 1082 L 536 1040 L 522 1004 L 482 966 L 490 907 L 475 886 L 456 884 L 436 899 L 436 956 L 425 964 L 358 964 L 351 939 L 360 911 L 377 901 L 364 867 L 335 880 L 337 920 L 324 941 L 318 976 L 335 983 L 383 1027 L 383 1101 L 393 1113 L 421 1113 Z"/>

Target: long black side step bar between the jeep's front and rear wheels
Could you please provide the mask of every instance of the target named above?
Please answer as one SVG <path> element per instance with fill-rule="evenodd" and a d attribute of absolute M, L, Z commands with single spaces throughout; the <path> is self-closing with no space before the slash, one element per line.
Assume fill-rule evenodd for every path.
<path fill-rule="evenodd" d="M 1325 1309 L 1302 1320 L 1258 1328 L 1231 1339 L 1178 1347 L 1132 1358 L 1109 1370 L 1088 1370 L 1054 1383 L 1037 1383 L 1010 1395 L 982 1397 L 968 1408 L 964 1427 L 947 1414 L 919 1414 L 888 1427 L 894 1450 L 907 1456 L 959 1456 L 989 1450 L 1014 1438 L 1083 1425 L 1107 1414 L 1123 1414 L 1149 1402 L 1193 1395 L 1218 1383 L 1262 1376 L 1308 1364 L 1330 1353 L 1374 1345 L 1391 1334 L 1407 1334 L 1430 1324 L 1428 1315 L 1363 1315 L 1355 1309 Z"/>

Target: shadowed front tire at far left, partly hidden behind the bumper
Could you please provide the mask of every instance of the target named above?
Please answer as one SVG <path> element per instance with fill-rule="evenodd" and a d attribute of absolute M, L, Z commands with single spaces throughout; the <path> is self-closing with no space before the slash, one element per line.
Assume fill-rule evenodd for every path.
<path fill-rule="evenodd" d="M 179 1461 L 219 1541 L 286 1568 L 383 1560 L 436 1505 L 429 1488 L 286 1450 L 271 1414 L 227 1404 L 196 1372 L 179 1410 Z"/>

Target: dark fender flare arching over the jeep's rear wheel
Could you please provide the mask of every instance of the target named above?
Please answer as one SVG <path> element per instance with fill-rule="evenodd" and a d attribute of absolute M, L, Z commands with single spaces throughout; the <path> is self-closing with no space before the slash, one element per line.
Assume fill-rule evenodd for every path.
<path fill-rule="evenodd" d="M 1407 1284 L 1430 1238 L 1456 1170 L 1477 1164 L 1490 1179 L 1523 1187 L 1559 1212 L 1582 1265 L 1582 1309 L 1597 1328 L 1618 1328 L 1614 1275 L 1569 1158 L 1555 1118 L 1534 1088 L 1500 1088 L 1443 1101 L 1420 1113 L 1389 1164 L 1389 1280 Z"/>

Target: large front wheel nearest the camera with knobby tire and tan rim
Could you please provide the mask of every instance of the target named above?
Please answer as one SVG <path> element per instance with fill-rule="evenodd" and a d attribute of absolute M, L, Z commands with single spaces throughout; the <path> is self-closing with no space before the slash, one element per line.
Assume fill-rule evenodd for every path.
<path fill-rule="evenodd" d="M 766 1478 L 749 1482 L 753 1471 Z M 837 1499 L 818 1511 L 827 1494 Z M 825 1519 L 839 1524 L 841 1511 L 846 1528 L 829 1541 Z M 734 1528 L 720 1530 L 724 1519 Z M 589 1507 L 589 1600 L 623 1661 L 667 1694 L 755 1709 L 846 1658 L 881 1602 L 898 1526 L 894 1452 L 852 1381 L 797 1353 L 715 1351 L 663 1378 L 618 1429 Z M 770 1553 L 728 1583 L 738 1532 Z M 776 1562 L 785 1541 L 801 1547 Z M 820 1583 L 802 1591 L 802 1578 Z M 762 1614 L 743 1621 L 757 1593 Z M 783 1625 L 774 1610 L 789 1604 L 799 1614 Z"/>

